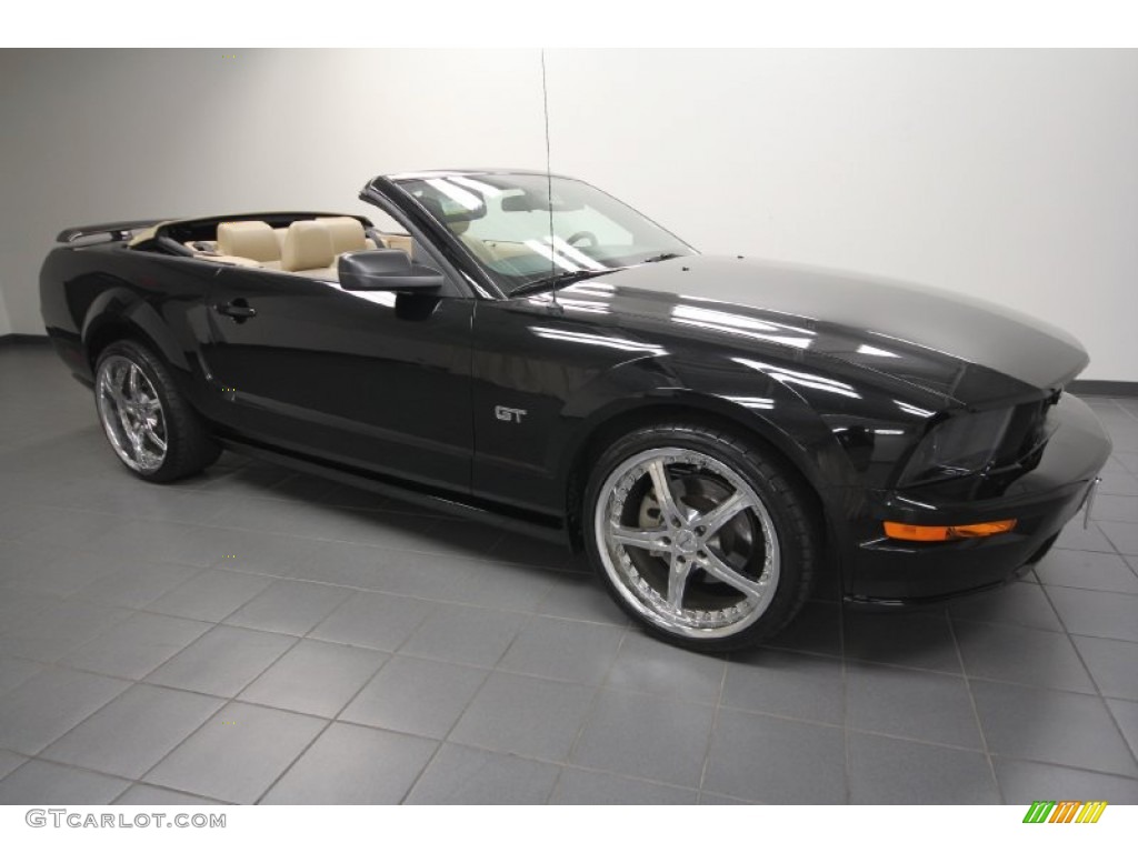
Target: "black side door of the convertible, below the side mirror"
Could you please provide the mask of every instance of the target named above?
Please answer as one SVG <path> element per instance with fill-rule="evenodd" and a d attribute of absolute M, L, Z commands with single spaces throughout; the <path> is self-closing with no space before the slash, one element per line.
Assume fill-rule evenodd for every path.
<path fill-rule="evenodd" d="M 467 491 L 472 314 L 464 297 L 225 267 L 204 351 L 217 420 L 288 452 Z"/>

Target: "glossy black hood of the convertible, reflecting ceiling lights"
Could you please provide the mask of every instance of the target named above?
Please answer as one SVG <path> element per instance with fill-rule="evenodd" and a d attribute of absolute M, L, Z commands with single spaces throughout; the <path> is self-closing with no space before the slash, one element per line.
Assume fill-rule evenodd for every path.
<path fill-rule="evenodd" d="M 769 262 L 692 256 L 642 264 L 568 288 L 562 298 L 571 304 L 577 296 L 611 301 L 617 316 L 702 328 L 733 342 L 798 349 L 800 357 L 841 358 L 970 405 L 1050 392 L 1089 361 L 1062 329 L 1009 308 Z M 1005 381 L 993 382 L 992 373 Z"/>

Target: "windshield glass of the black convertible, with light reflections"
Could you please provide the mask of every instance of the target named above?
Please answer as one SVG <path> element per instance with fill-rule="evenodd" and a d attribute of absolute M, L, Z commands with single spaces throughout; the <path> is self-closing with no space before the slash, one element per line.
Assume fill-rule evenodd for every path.
<path fill-rule="evenodd" d="M 396 183 L 450 229 L 508 293 L 694 254 L 583 181 L 469 173 L 409 175 Z"/>

